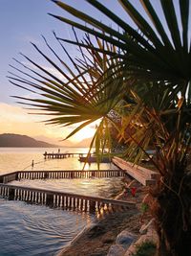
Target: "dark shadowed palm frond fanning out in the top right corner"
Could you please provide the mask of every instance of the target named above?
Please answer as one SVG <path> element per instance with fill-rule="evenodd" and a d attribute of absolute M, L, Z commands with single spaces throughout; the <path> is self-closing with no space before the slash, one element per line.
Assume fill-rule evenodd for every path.
<path fill-rule="evenodd" d="M 117 26 L 121 28 L 121 32 L 111 29 L 94 17 L 84 12 L 79 12 L 61 1 L 53 2 L 66 12 L 70 12 L 90 24 L 93 29 L 81 23 L 66 20 L 63 17 L 56 16 L 56 18 L 84 32 L 105 39 L 122 49 L 125 52 L 124 57 L 128 69 L 131 70 L 132 67 L 134 68 L 132 69 L 132 74 L 134 74 L 135 66 L 138 67 L 135 76 L 138 75 L 139 70 L 141 72 L 140 78 L 148 76 L 148 73 L 150 73 L 150 81 L 152 81 L 156 75 L 159 81 L 176 80 L 180 83 L 182 80 L 190 80 L 190 49 L 188 50 L 187 47 L 190 44 L 190 38 L 188 37 L 189 1 L 183 1 L 182 5 L 180 2 L 180 19 L 183 28 L 182 36 L 180 35 L 180 25 L 178 24 L 173 1 L 161 1 L 161 9 L 172 37 L 165 32 L 165 29 L 160 23 L 159 13 L 155 12 L 155 8 L 148 0 L 142 0 L 140 3 L 144 7 L 157 33 L 153 30 L 151 24 L 138 12 L 134 3 L 132 4 L 128 0 L 119 1 L 124 11 L 127 12 L 138 26 L 141 35 L 136 29 L 130 27 L 127 23 L 118 18 L 114 12 L 111 12 L 96 0 L 87 0 L 87 2 L 111 18 Z M 181 41 L 183 41 L 183 43 L 181 43 Z M 85 45 L 83 46 L 85 47 Z M 131 56 L 131 58 L 129 58 L 129 56 Z"/>

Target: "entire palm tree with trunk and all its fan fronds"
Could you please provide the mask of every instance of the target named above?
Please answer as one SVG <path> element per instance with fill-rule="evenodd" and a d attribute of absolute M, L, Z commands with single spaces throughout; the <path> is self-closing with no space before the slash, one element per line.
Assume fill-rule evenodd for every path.
<path fill-rule="evenodd" d="M 48 124 L 78 123 L 69 136 L 99 120 L 91 144 L 92 147 L 96 142 L 97 153 L 112 148 L 114 129 L 117 140 L 127 147 L 126 157 L 135 162 L 143 155 L 150 157 L 148 148 L 155 150 L 156 157 L 150 160 L 160 174 L 159 184 L 152 192 L 152 214 L 159 234 L 157 254 L 191 255 L 191 172 L 187 168 L 191 144 L 189 0 L 180 0 L 180 12 L 172 0 L 160 0 L 166 26 L 149 0 L 141 0 L 140 4 L 150 22 L 138 12 L 134 2 L 119 0 L 138 30 L 96 0 L 87 2 L 110 17 L 119 29 L 63 2 L 53 2 L 90 26 L 52 14 L 86 35 L 82 41 L 75 31 L 73 41 L 55 35 L 70 62 L 58 56 L 46 40 L 57 62 L 33 45 L 58 76 L 26 56 L 23 57 L 30 62 L 28 66 L 16 60 L 27 71 L 13 67 L 21 76 L 11 73 L 11 82 L 35 95 L 31 99 L 16 98 L 32 109 L 55 116 Z M 71 58 L 65 42 L 76 45 L 81 57 Z M 115 116 L 119 116 L 120 122 Z"/>

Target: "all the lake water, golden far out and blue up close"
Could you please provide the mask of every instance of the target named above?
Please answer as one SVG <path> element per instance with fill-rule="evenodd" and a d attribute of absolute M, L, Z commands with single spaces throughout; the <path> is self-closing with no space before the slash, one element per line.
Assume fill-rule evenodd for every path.
<path fill-rule="evenodd" d="M 77 157 L 44 160 L 43 153 L 56 149 L 0 148 L 0 174 L 19 170 L 80 170 Z M 61 149 L 61 152 L 87 152 L 88 149 Z M 32 169 L 32 160 L 34 166 Z M 100 169 L 116 168 L 101 164 Z M 96 169 L 96 164 L 86 169 Z M 112 198 L 122 187 L 120 178 L 22 180 L 12 184 L 48 188 L 84 195 Z M 79 214 L 21 201 L 0 199 L 0 256 L 55 255 L 74 236 L 95 220 Z"/>

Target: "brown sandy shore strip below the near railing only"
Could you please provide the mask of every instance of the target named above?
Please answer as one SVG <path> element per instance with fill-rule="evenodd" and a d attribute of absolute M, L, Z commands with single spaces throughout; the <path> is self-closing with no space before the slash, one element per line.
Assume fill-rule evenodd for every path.
<path fill-rule="evenodd" d="M 103 256 L 115 243 L 118 233 L 125 228 L 136 235 L 139 232 L 138 210 L 115 213 L 84 228 L 57 256 Z"/>

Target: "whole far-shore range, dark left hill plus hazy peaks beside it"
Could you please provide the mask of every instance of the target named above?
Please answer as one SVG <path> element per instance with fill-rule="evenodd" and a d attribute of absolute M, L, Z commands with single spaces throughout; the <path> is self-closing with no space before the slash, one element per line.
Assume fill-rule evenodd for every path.
<path fill-rule="evenodd" d="M 26 148 L 62 148 L 62 147 L 89 147 L 91 138 L 84 139 L 76 144 L 66 141 L 64 145 L 55 145 L 41 140 L 33 139 L 27 135 L 3 133 L 0 134 L 0 147 L 26 147 Z"/>

